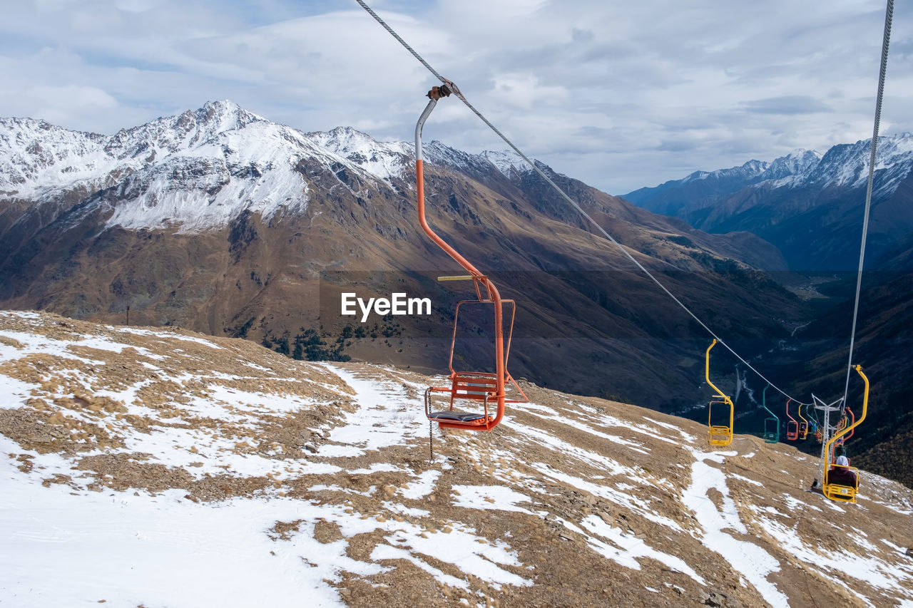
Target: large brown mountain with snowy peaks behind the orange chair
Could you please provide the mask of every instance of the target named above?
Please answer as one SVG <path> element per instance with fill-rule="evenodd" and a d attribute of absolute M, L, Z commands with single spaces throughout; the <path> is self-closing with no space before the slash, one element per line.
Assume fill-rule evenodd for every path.
<path fill-rule="evenodd" d="M 429 221 L 518 300 L 515 376 L 666 409 L 699 401 L 702 330 L 538 175 L 502 152 L 429 142 L 427 157 Z M 803 302 L 754 269 L 785 268 L 770 244 L 710 236 L 545 170 L 731 340 L 776 340 L 805 320 Z M 466 293 L 435 281 L 457 268 L 417 226 L 413 172 L 411 144 L 304 133 L 226 101 L 111 137 L 5 120 L 0 301 L 117 322 L 129 307 L 133 322 L 289 355 L 440 369 Z M 435 313 L 362 328 L 341 316 L 351 289 L 429 297 Z"/>

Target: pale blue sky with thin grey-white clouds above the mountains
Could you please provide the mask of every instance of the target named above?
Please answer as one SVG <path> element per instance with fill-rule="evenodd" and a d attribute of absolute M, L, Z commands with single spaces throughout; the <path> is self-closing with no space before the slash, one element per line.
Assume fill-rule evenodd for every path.
<path fill-rule="evenodd" d="M 871 137 L 884 0 L 373 0 L 525 152 L 611 194 Z M 409 141 L 436 80 L 355 0 L 16 0 L 0 116 L 80 131 L 234 100 L 303 131 Z M 913 131 L 897 3 L 883 134 Z M 457 100 L 425 128 L 506 146 Z"/>

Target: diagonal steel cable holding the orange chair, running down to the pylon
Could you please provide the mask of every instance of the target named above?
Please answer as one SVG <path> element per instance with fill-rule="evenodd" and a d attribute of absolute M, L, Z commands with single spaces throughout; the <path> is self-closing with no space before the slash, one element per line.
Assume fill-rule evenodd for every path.
<path fill-rule="evenodd" d="M 437 70 L 431 66 L 431 64 L 429 64 L 427 61 L 425 61 L 425 58 L 423 58 L 421 55 L 419 55 L 419 54 L 415 51 L 415 49 L 414 49 L 413 47 L 410 47 L 409 44 L 408 44 L 407 42 L 405 42 L 405 40 L 404 40 L 402 37 L 400 37 L 400 36 L 394 31 L 394 29 L 393 29 L 391 26 L 387 25 L 387 23 L 386 23 L 385 21 L 383 21 L 383 19 L 382 19 L 380 16 L 378 16 L 377 13 L 375 13 L 375 12 L 371 9 L 370 6 L 366 5 L 366 4 L 363 2 L 363 0 L 355 0 L 355 1 L 356 1 L 359 5 L 361 5 L 362 8 L 368 12 L 369 15 L 373 16 L 374 19 L 377 21 L 377 23 L 379 23 L 381 26 L 383 26 L 383 28 L 384 28 L 385 30 L 387 30 L 387 32 L 389 32 L 390 35 L 393 36 L 393 37 L 396 39 L 397 42 L 399 42 L 401 45 L 403 45 L 403 47 L 405 47 L 405 49 L 406 49 L 407 51 L 409 51 L 409 52 L 412 54 L 413 57 L 415 57 L 416 59 L 418 59 L 418 61 L 419 61 L 423 66 L 425 66 L 425 68 L 428 68 L 428 71 L 430 71 L 432 74 L 434 74 L 435 77 L 436 77 L 436 79 L 439 79 L 441 82 L 443 82 L 444 84 L 446 84 L 447 87 L 450 88 L 450 89 L 456 94 L 456 97 L 458 97 L 464 104 L 466 104 L 466 106 L 467 106 L 467 108 L 468 108 L 469 110 L 471 110 L 471 111 L 472 111 L 472 112 L 473 112 L 481 121 L 483 121 L 486 125 L 488 125 L 488 128 L 491 129 L 492 131 L 494 131 L 494 132 L 498 135 L 498 137 L 500 137 L 501 140 L 503 140 L 505 143 L 507 143 L 507 144 L 510 146 L 510 148 L 511 148 L 514 152 L 517 152 L 517 154 L 519 155 L 519 157 L 522 158 L 524 161 L 526 161 L 526 162 L 530 165 L 530 167 L 532 168 L 532 170 L 535 171 L 536 173 L 538 173 L 539 176 L 540 176 L 543 180 L 545 180 L 547 183 L 549 183 L 549 185 L 551 185 L 551 187 L 555 190 L 555 192 L 557 192 L 558 194 L 560 194 L 560 195 L 561 195 L 561 198 L 563 198 L 568 204 L 570 204 L 570 205 L 577 211 L 577 213 L 579 213 L 580 215 L 582 215 L 583 218 L 585 218 L 588 222 L 590 222 L 590 224 L 592 224 L 592 225 L 596 228 L 596 230 L 598 230 L 606 239 L 608 239 L 615 247 L 617 247 L 618 250 L 621 251 L 621 252 L 624 254 L 625 257 L 627 257 L 629 260 L 631 260 L 631 262 L 633 262 L 634 265 L 635 265 L 636 267 L 638 267 L 638 268 L 639 268 L 639 269 L 640 269 L 648 278 L 650 278 L 654 283 L 656 283 L 656 287 L 658 287 L 658 288 L 662 289 L 664 292 L 666 292 L 666 295 L 667 295 L 669 298 L 673 299 L 673 300 L 677 303 L 677 305 L 678 305 L 679 307 L 681 307 L 681 309 L 684 309 L 685 312 L 687 312 L 687 314 L 690 315 L 692 319 L 694 319 L 695 321 L 697 321 L 697 322 L 698 322 L 698 325 L 700 325 L 702 328 L 704 328 L 704 330 L 706 330 L 713 338 L 715 338 L 717 341 L 719 341 L 720 344 L 722 344 L 724 347 L 726 347 L 726 349 L 727 349 L 729 352 L 731 352 L 733 355 L 735 355 L 735 357 L 736 357 L 740 362 L 744 363 L 745 366 L 748 367 L 752 372 L 754 372 L 755 374 L 757 374 L 758 377 L 761 378 L 761 380 L 763 380 L 765 383 L 770 384 L 771 387 L 773 387 L 773 389 L 775 389 L 778 393 L 781 393 L 784 397 L 786 397 L 786 398 L 788 398 L 788 399 L 792 399 L 792 401 L 796 402 L 797 404 L 803 404 L 803 403 L 800 402 L 798 399 L 792 398 L 792 396 L 791 396 L 789 393 L 786 393 L 785 391 L 783 391 L 783 390 L 782 390 L 780 387 L 778 387 L 776 384 L 771 383 L 771 381 L 768 380 L 761 372 L 759 372 L 758 370 L 756 370 L 756 369 L 750 364 L 750 362 L 745 361 L 745 359 L 743 359 L 742 356 L 741 356 L 738 352 L 736 352 L 735 350 L 733 350 L 732 347 L 730 347 L 729 344 L 726 343 L 726 341 L 724 341 L 724 340 L 723 340 L 722 338 L 720 338 L 713 330 L 711 330 L 711 329 L 707 326 L 707 324 L 704 323 L 704 321 L 700 320 L 700 319 L 698 318 L 698 316 L 697 316 L 696 314 L 694 314 L 694 313 L 691 311 L 691 309 L 688 309 L 687 306 L 686 306 L 680 299 L 678 299 L 671 291 L 669 291 L 669 290 L 666 288 L 666 286 L 663 285 L 663 284 L 659 281 L 658 278 L 656 278 L 649 270 L 647 270 L 647 269 L 644 267 L 644 265 L 642 265 L 640 262 L 638 262 L 637 259 L 636 259 L 634 256 L 632 256 L 632 255 L 630 254 L 630 252 L 628 252 L 628 250 L 627 250 L 621 243 L 619 243 L 618 241 L 616 241 L 612 235 L 610 235 L 608 232 L 606 232 L 602 225 L 599 225 L 599 224 L 596 222 L 596 220 L 593 219 L 593 217 L 591 217 L 589 214 L 587 214 L 587 213 L 582 209 L 582 207 L 580 206 L 580 204 L 577 204 L 577 202 L 574 201 L 568 194 L 566 194 L 566 193 L 561 189 L 561 187 L 560 187 L 557 183 L 554 183 L 554 182 L 551 180 L 551 178 L 550 178 L 548 175 L 546 175 L 546 174 L 545 174 L 545 173 L 536 165 L 535 162 L 533 162 L 532 160 L 530 160 L 530 157 L 529 157 L 529 156 L 527 156 L 526 154 L 524 154 L 524 153 L 523 153 L 523 152 L 522 152 L 522 151 L 521 151 L 513 142 L 511 142 L 511 141 L 507 138 L 507 136 L 504 135 L 504 133 L 502 133 L 501 131 L 499 131 L 499 130 L 498 130 L 498 127 L 496 127 L 494 124 L 492 124 L 491 121 L 488 121 L 488 119 L 487 119 L 479 110 L 477 110 L 475 106 L 473 106 L 471 103 L 469 103 L 469 101 L 466 99 L 466 97 L 463 96 L 463 93 L 460 91 L 460 89 L 459 89 L 458 87 L 456 87 L 456 84 L 455 84 L 453 81 L 448 80 L 448 79 L 444 78 L 443 76 L 441 76 L 440 73 L 438 73 Z M 847 375 L 847 377 L 848 377 L 848 375 Z M 848 381 L 847 381 L 847 382 L 848 382 Z M 812 405 L 812 404 L 803 404 L 803 405 Z"/>

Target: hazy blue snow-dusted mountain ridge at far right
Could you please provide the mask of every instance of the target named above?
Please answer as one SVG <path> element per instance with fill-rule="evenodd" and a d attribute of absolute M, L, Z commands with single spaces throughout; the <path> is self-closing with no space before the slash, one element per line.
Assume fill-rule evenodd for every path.
<path fill-rule="evenodd" d="M 714 233 L 747 230 L 778 246 L 793 270 L 848 270 L 859 256 L 871 140 L 824 155 L 797 151 L 641 188 L 624 198 Z M 878 138 L 870 261 L 913 233 L 913 134 Z"/>

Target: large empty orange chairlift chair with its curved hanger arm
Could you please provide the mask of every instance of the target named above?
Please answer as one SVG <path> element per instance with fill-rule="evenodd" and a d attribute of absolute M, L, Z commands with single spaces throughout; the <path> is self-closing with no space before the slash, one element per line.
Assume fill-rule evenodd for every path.
<path fill-rule="evenodd" d="M 453 340 L 450 342 L 450 385 L 429 386 L 425 390 L 425 415 L 430 422 L 436 422 L 440 428 L 458 428 L 470 431 L 490 431 L 501 422 L 504 417 L 505 403 L 525 403 L 526 394 L 519 388 L 507 370 L 508 356 L 510 354 L 510 337 L 513 333 L 513 320 L 516 303 L 512 299 L 502 299 L 498 288 L 491 279 L 483 275 L 475 266 L 470 264 L 465 257 L 456 252 L 443 238 L 438 236 L 425 220 L 425 183 L 422 167 L 422 127 L 431 110 L 435 109 L 437 100 L 449 97 L 458 90 L 453 83 L 441 87 L 434 87 L 428 91 L 430 99 L 422 116 L 415 125 L 415 182 L 418 197 L 418 221 L 425 234 L 440 246 L 448 256 L 454 258 L 456 263 L 464 267 L 468 275 L 457 277 L 438 277 L 438 280 L 471 280 L 476 288 L 476 299 L 467 299 L 456 305 L 454 319 Z M 459 319 L 459 310 L 463 305 L 483 304 L 492 306 L 495 318 L 495 371 L 494 372 L 464 372 L 454 369 L 454 349 L 456 347 L 456 326 Z M 504 307 L 509 306 L 509 330 L 507 340 L 504 339 Z M 508 383 L 512 384 L 522 399 L 507 399 L 505 389 Z M 433 411 L 432 395 L 443 393 L 447 398 L 446 409 Z M 454 409 L 457 403 L 472 404 L 480 411 L 461 412 Z"/>

